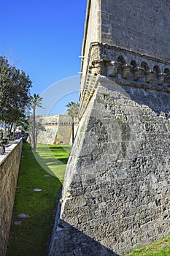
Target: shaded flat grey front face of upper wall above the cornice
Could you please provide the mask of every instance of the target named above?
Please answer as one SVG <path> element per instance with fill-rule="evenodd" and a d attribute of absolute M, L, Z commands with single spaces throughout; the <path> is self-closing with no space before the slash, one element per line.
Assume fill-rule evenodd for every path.
<path fill-rule="evenodd" d="M 170 61 L 168 0 L 101 1 L 101 42 Z"/>

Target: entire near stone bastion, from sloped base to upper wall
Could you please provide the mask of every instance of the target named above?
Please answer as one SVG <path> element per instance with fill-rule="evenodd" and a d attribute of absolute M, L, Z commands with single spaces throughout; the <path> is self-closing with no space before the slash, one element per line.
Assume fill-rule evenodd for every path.
<path fill-rule="evenodd" d="M 124 255 L 170 233 L 168 7 L 88 1 L 80 125 L 50 256 Z"/>

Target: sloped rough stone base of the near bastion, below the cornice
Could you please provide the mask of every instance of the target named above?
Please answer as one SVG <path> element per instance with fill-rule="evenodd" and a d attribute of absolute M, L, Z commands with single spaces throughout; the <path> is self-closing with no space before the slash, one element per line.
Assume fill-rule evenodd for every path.
<path fill-rule="evenodd" d="M 169 93 L 96 78 L 50 256 L 123 255 L 170 233 Z"/>

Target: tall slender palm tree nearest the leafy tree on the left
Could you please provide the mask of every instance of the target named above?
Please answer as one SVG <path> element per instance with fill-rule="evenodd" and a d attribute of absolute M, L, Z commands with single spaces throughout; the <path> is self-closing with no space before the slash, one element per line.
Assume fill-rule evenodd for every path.
<path fill-rule="evenodd" d="M 42 108 L 42 97 L 39 94 L 34 94 L 31 97 L 31 106 L 33 109 L 32 122 L 32 149 L 36 150 L 36 107 Z"/>

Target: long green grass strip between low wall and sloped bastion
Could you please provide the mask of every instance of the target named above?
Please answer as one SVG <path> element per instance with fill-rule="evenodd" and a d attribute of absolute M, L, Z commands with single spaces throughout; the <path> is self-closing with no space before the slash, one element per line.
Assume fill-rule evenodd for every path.
<path fill-rule="evenodd" d="M 23 144 L 7 256 L 47 255 L 70 148 L 39 145 L 33 154 L 29 144 Z M 35 188 L 42 191 L 34 192 Z M 28 214 L 29 218 L 20 219 L 20 213 Z"/>

